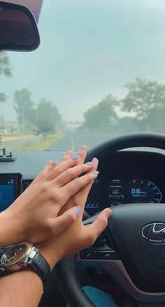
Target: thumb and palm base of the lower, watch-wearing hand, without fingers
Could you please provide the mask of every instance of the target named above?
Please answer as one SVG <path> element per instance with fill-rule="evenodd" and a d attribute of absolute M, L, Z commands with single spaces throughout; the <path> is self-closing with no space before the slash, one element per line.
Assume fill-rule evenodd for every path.
<path fill-rule="evenodd" d="M 53 268 L 62 258 L 70 257 L 79 250 L 91 246 L 107 227 L 110 214 L 111 210 L 106 208 L 99 214 L 96 221 L 89 226 L 84 226 L 82 218 L 78 216 L 67 230 L 62 231 L 58 236 L 54 236 L 48 241 L 39 243 L 37 247 L 47 259 L 50 267 Z"/>

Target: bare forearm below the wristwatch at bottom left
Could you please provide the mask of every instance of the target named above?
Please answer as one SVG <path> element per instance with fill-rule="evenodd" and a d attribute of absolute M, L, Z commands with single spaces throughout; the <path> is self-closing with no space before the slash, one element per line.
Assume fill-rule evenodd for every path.
<path fill-rule="evenodd" d="M 0 305 L 3 307 L 37 307 L 42 292 L 41 278 L 30 269 L 0 278 Z"/>

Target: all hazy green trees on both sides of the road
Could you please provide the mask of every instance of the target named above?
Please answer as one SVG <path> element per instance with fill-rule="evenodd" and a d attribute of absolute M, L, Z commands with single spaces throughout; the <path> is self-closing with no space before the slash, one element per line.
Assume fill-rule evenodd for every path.
<path fill-rule="evenodd" d="M 12 76 L 6 52 L 0 52 L 0 77 Z M 157 81 L 136 78 L 124 86 L 127 94 L 119 99 L 108 94 L 83 114 L 79 131 L 122 133 L 129 131 L 165 132 L 165 85 Z M 0 92 L 0 102 L 8 99 Z M 22 133 L 47 134 L 64 129 L 62 115 L 52 101 L 41 99 L 37 105 L 26 88 L 17 90 L 13 97 L 17 123 Z M 122 115 L 124 114 L 126 115 Z M 122 116 L 121 116 L 122 115 Z M 66 127 L 65 127 L 66 128 Z"/>

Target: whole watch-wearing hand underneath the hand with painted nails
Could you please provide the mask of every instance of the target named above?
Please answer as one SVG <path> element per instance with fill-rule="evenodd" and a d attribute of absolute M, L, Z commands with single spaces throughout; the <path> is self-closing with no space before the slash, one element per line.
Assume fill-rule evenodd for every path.
<path fill-rule="evenodd" d="M 79 159 L 78 163 L 84 162 L 83 160 L 86 157 L 87 148 L 83 147 L 82 152 L 78 152 L 78 154 L 81 156 L 81 160 Z M 70 155 L 72 154 L 70 153 Z M 61 163 L 68 159 L 69 157 L 65 156 Z M 92 159 L 92 169 L 90 171 L 96 171 L 97 165 L 98 160 L 96 158 Z M 90 173 L 88 175 L 90 176 Z M 58 236 L 52 236 L 50 240 L 38 245 L 39 250 L 41 250 L 41 253 L 43 253 L 52 267 L 55 266 L 60 259 L 69 257 L 78 252 L 78 250 L 92 245 L 107 226 L 108 217 L 110 217 L 111 214 L 109 208 L 103 210 L 97 217 L 97 220 L 90 226 L 85 227 L 82 224 L 82 214 L 91 185 L 92 181 L 78 190 L 60 211 L 60 213 L 64 212 L 64 210 L 71 208 L 73 204 L 78 204 L 81 207 L 80 215 L 71 226 L 68 227 L 67 230 L 62 231 Z"/>

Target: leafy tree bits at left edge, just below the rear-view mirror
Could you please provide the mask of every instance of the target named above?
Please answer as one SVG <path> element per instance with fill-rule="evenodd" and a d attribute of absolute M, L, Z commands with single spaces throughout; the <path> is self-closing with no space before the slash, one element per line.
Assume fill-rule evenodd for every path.
<path fill-rule="evenodd" d="M 0 52 L 0 76 L 11 76 L 10 61 L 6 52 Z M 7 96 L 0 92 L 0 103 L 6 101 Z"/>

